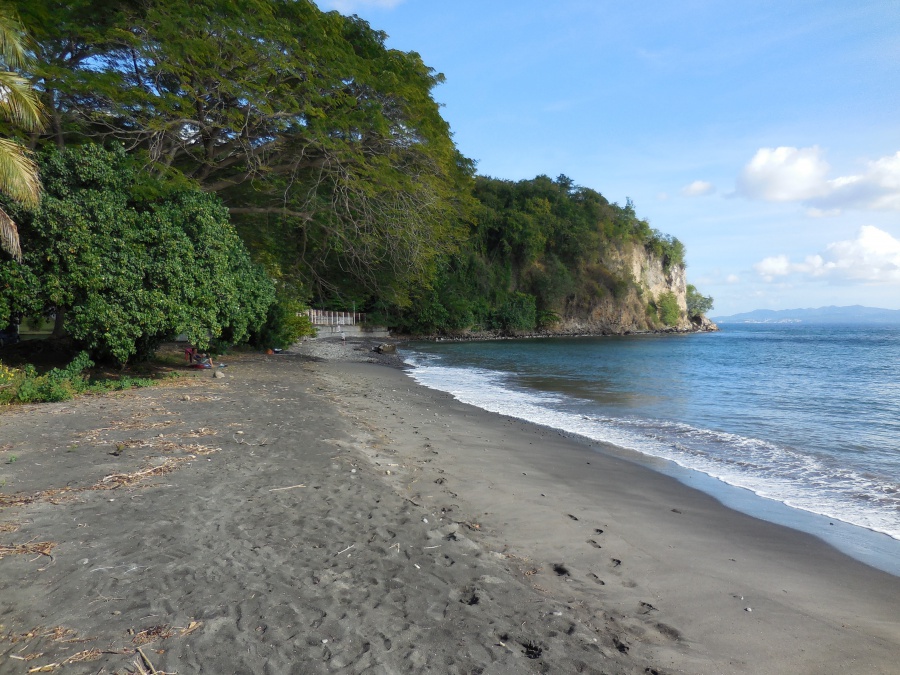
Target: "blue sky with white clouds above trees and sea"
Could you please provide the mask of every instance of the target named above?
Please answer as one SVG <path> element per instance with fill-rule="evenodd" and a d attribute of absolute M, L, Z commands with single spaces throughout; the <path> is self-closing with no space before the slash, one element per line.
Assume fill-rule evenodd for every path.
<path fill-rule="evenodd" d="M 446 75 L 480 173 L 630 197 L 713 315 L 900 309 L 900 2 L 319 5 Z"/>

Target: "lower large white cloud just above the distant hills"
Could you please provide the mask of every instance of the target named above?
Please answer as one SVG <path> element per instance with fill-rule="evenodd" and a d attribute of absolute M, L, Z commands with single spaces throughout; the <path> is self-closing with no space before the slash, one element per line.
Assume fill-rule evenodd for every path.
<path fill-rule="evenodd" d="M 793 274 L 835 281 L 900 283 L 900 240 L 872 225 L 856 239 L 829 244 L 821 254 L 791 262 L 786 255 L 764 258 L 753 269 L 766 281 Z"/>

